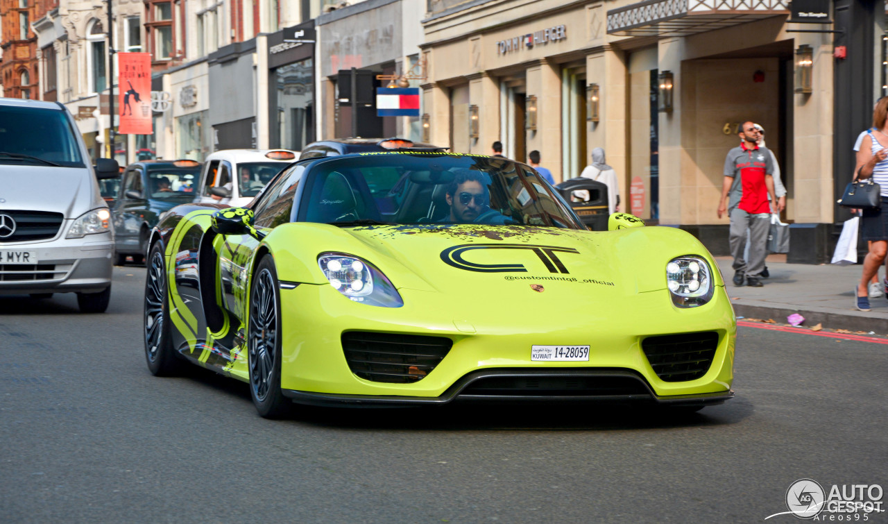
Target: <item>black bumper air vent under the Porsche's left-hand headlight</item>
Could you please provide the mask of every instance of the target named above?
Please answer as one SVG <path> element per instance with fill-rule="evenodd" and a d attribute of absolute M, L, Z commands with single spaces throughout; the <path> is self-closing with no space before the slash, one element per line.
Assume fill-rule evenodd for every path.
<path fill-rule="evenodd" d="M 374 382 L 422 380 L 447 356 L 453 341 L 446 337 L 349 331 L 342 348 L 349 369 Z"/>

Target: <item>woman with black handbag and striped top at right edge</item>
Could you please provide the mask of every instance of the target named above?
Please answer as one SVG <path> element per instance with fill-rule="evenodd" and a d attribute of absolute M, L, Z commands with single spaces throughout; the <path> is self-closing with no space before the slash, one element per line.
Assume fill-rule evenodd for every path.
<path fill-rule="evenodd" d="M 854 172 L 860 180 L 871 180 L 879 187 L 881 205 L 863 209 L 860 219 L 860 235 L 871 241 L 867 258 L 863 260 L 863 274 L 854 292 L 855 307 L 869 311 L 868 283 L 879 266 L 882 266 L 888 252 L 888 97 L 882 97 L 873 109 L 873 127 L 860 140 L 857 151 L 857 166 Z M 860 185 L 858 185 L 860 187 Z M 844 199 L 844 197 L 843 197 Z M 855 206 L 857 207 L 857 206 Z"/>

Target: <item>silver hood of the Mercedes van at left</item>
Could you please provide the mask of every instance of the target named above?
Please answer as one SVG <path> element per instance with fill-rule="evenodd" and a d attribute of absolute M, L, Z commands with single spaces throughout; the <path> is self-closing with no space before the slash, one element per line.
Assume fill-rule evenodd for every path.
<path fill-rule="evenodd" d="M 64 213 L 77 218 L 107 207 L 88 168 L 0 164 L 0 209 Z"/>

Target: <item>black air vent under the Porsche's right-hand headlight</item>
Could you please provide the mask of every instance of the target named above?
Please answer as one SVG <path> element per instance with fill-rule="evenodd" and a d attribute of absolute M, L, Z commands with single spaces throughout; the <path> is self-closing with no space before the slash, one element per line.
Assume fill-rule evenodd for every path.
<path fill-rule="evenodd" d="M 685 382 L 706 374 L 718 347 L 718 333 L 703 331 L 641 341 L 647 361 L 664 382 Z"/>

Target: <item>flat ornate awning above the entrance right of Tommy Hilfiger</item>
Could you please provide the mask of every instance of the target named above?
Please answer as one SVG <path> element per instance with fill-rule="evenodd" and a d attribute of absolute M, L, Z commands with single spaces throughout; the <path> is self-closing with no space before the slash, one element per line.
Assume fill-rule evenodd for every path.
<path fill-rule="evenodd" d="M 607 12 L 607 34 L 688 36 L 789 14 L 788 0 L 646 0 Z"/>

